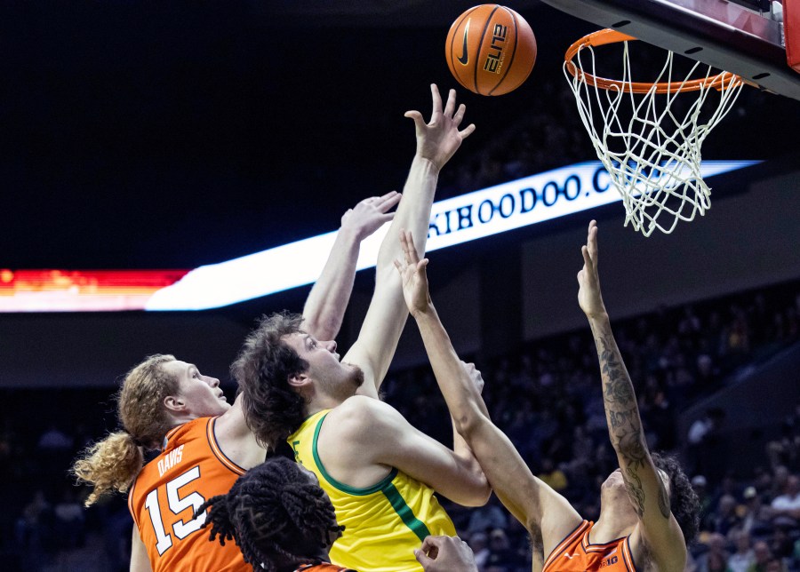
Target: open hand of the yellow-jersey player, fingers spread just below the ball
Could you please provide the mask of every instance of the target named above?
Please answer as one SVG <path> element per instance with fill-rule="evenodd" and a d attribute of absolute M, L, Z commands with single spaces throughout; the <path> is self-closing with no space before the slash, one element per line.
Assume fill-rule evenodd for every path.
<path fill-rule="evenodd" d="M 450 90 L 447 104 L 442 109 L 442 96 L 436 83 L 431 83 L 430 92 L 433 98 L 433 111 L 430 121 L 425 119 L 419 111 L 406 111 L 405 116 L 414 120 L 417 132 L 417 155 L 428 159 L 441 169 L 452 155 L 458 150 L 461 141 L 467 139 L 475 131 L 475 124 L 470 123 L 465 129 L 459 131 L 459 125 L 464 119 L 467 106 L 463 103 L 456 109 L 456 92 Z"/>

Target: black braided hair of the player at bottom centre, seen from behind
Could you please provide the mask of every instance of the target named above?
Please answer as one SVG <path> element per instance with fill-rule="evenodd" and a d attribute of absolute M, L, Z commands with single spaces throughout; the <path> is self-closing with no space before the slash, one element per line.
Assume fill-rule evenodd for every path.
<path fill-rule="evenodd" d="M 227 495 L 212 497 L 204 527 L 210 540 L 233 540 L 254 569 L 278 572 L 318 562 L 342 527 L 331 500 L 300 466 L 286 457 L 270 457 L 239 477 Z M 263 568 L 262 568 L 263 567 Z"/>

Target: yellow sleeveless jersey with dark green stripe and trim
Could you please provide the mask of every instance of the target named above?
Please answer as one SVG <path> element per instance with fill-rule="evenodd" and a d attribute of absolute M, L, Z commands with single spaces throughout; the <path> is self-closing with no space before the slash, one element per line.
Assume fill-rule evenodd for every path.
<path fill-rule="evenodd" d="M 316 474 L 336 509 L 336 520 L 345 527 L 331 547 L 331 561 L 359 572 L 421 572 L 414 549 L 428 535 L 455 536 L 452 520 L 433 489 L 396 468 L 365 489 L 336 481 L 325 471 L 316 449 L 329 411 L 308 417 L 287 441 L 297 461 Z"/>

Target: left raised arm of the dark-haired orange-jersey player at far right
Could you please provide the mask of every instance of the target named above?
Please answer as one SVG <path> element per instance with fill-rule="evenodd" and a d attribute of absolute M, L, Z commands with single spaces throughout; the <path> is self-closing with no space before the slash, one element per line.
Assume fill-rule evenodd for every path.
<path fill-rule="evenodd" d="M 580 516 L 564 497 L 533 476 L 514 444 L 492 423 L 480 393 L 480 372 L 460 361 L 430 299 L 428 259 L 420 260 L 410 234 L 402 236 L 402 246 L 404 262 L 398 260 L 395 266 L 444 401 L 492 489 L 528 529 L 535 549 L 534 569 L 540 569 L 544 557 L 580 523 Z"/>

